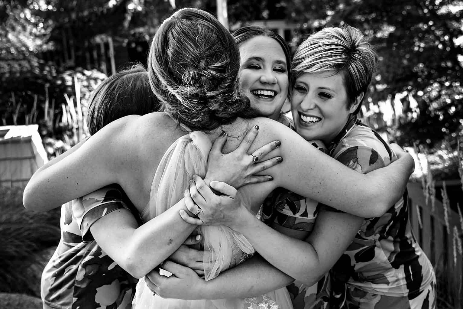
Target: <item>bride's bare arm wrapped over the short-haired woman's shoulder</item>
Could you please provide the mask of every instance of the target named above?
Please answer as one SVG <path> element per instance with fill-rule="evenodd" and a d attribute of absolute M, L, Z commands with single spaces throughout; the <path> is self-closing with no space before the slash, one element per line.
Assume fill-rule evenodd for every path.
<path fill-rule="evenodd" d="M 283 162 L 278 170 L 274 167 L 273 173 L 272 169 L 266 173 L 279 187 L 360 217 L 381 216 L 402 197 L 414 168 L 413 158 L 404 151 L 392 164 L 361 174 L 318 151 L 288 127 L 270 121 L 261 131 L 277 131 Z"/>

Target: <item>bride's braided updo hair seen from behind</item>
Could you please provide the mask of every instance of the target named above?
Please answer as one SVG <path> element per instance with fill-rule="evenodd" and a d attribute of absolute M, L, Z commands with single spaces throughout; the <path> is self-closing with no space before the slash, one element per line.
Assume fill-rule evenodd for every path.
<path fill-rule="evenodd" d="M 239 51 L 210 13 L 181 9 L 159 27 L 150 48 L 150 86 L 164 110 L 192 130 L 254 116 L 238 88 Z"/>

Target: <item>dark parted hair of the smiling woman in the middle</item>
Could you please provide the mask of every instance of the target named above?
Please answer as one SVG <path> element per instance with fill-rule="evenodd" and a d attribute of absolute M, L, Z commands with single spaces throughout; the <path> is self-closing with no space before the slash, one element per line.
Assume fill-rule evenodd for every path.
<path fill-rule="evenodd" d="M 232 33 L 236 44 L 240 47 L 242 44 L 255 37 L 268 37 L 273 38 L 282 47 L 283 53 L 286 58 L 286 67 L 288 68 L 288 99 L 291 99 L 291 91 L 293 89 L 293 80 L 291 74 L 291 50 L 289 49 L 288 43 L 278 33 L 258 26 L 246 26 L 239 28 Z"/>

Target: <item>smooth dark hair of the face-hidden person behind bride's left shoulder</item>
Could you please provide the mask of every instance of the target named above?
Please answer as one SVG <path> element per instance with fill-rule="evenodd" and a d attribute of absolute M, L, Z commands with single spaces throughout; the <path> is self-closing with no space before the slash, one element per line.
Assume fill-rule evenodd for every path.
<path fill-rule="evenodd" d="M 158 112 L 160 107 L 148 72 L 137 64 L 109 76 L 94 90 L 87 108 L 88 131 L 93 135 L 116 119 Z"/>

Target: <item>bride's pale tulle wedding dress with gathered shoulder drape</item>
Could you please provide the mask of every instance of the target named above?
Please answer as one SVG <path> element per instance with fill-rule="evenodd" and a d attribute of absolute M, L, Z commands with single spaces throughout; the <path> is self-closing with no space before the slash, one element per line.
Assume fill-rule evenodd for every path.
<path fill-rule="evenodd" d="M 189 131 L 189 130 L 187 130 Z M 166 151 L 151 185 L 150 202 L 142 212 L 144 221 L 154 218 L 183 198 L 183 191 L 194 174 L 206 175 L 207 157 L 212 142 L 204 132 L 194 131 L 177 139 Z M 243 196 L 244 194 L 242 194 Z M 249 196 L 243 196 L 250 208 Z M 204 239 L 204 251 L 212 252 L 211 267 L 205 279 L 249 259 L 255 252 L 250 242 L 225 226 L 198 227 Z M 133 309 L 292 309 L 286 287 L 250 298 L 181 300 L 153 296 L 144 279 L 137 284 Z"/>

